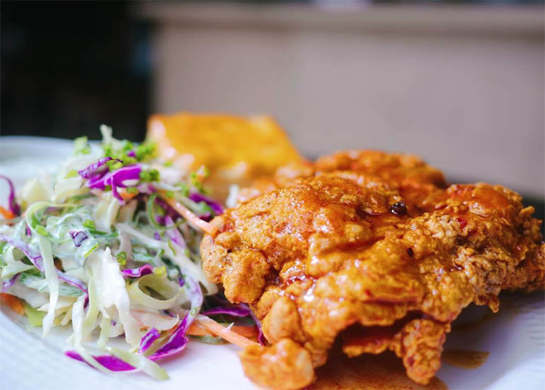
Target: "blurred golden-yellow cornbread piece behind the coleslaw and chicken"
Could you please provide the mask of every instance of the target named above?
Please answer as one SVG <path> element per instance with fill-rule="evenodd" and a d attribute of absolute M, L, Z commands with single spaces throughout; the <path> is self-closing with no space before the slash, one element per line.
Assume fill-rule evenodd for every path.
<path fill-rule="evenodd" d="M 156 141 L 162 158 L 185 173 L 207 167 L 205 184 L 219 199 L 230 184 L 248 185 L 280 165 L 302 160 L 285 131 L 267 115 L 156 114 L 149 118 L 147 138 Z"/>

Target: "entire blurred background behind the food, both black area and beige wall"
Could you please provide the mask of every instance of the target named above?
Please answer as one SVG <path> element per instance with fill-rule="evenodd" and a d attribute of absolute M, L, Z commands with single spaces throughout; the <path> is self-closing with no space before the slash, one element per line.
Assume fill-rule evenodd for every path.
<path fill-rule="evenodd" d="M 270 113 L 304 155 L 423 155 L 544 201 L 544 6 L 2 1 L 1 135 L 142 140 L 154 112 Z"/>

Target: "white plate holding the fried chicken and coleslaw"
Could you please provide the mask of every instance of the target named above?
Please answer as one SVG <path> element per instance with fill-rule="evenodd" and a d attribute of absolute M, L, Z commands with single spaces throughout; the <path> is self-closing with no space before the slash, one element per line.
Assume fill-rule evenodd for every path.
<path fill-rule="evenodd" d="M 0 174 L 16 185 L 28 177 L 54 172 L 71 152 L 71 142 L 54 138 L 0 138 Z M 0 183 L 0 203 L 7 186 Z M 171 379 L 157 382 L 143 374 L 105 375 L 64 357 L 66 330 L 45 340 L 9 309 L 0 312 L 0 387 L 2 389 L 254 389 L 244 377 L 237 348 L 189 343 L 184 352 L 161 365 Z M 483 316 L 483 307 L 469 307 L 461 321 Z M 460 321 L 457 321 L 458 323 Z M 486 351 L 490 356 L 475 370 L 443 364 L 437 373 L 451 390 L 543 389 L 545 384 L 545 301 L 541 293 L 506 295 L 498 314 L 475 326 L 454 326 L 445 350 Z"/>

